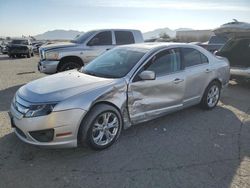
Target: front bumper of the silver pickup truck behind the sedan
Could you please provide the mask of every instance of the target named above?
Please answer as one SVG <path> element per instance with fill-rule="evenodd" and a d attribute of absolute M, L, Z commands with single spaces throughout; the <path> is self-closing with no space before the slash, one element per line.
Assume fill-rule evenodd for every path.
<path fill-rule="evenodd" d="M 42 60 L 38 63 L 38 70 L 42 73 L 53 74 L 57 72 L 59 61 Z"/>

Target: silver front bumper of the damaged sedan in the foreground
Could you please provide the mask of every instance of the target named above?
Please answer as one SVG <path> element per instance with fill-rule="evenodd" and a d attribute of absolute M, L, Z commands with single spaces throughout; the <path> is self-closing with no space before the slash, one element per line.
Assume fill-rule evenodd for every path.
<path fill-rule="evenodd" d="M 77 147 L 78 129 L 85 114 L 86 111 L 82 109 L 71 109 L 52 112 L 47 116 L 24 118 L 13 106 L 10 110 L 12 127 L 22 141 L 53 148 Z M 38 141 L 32 134 L 34 131 L 46 130 L 53 130 L 53 139 L 49 142 Z"/>

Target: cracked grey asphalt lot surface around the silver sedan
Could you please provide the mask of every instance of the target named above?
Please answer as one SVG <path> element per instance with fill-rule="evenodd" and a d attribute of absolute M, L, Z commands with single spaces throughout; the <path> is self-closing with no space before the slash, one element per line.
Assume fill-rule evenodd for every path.
<path fill-rule="evenodd" d="M 250 82 L 231 81 L 214 110 L 131 127 L 104 151 L 46 149 L 22 143 L 7 114 L 15 91 L 45 76 L 37 61 L 0 55 L 0 188 L 250 187 Z"/>

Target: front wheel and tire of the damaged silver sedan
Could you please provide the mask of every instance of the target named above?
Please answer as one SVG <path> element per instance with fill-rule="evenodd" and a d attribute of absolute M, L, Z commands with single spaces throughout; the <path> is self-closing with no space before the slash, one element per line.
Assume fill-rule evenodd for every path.
<path fill-rule="evenodd" d="M 108 126 L 112 127 L 108 128 Z M 121 130 L 122 117 L 120 112 L 113 106 L 98 104 L 90 110 L 82 121 L 78 132 L 78 144 L 94 150 L 103 150 L 115 143 Z"/>

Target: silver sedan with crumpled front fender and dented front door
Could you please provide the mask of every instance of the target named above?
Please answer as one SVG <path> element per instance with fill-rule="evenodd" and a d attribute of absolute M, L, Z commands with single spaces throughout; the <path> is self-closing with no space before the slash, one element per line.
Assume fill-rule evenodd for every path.
<path fill-rule="evenodd" d="M 125 45 L 22 86 L 11 122 L 30 144 L 104 149 L 131 125 L 196 104 L 213 109 L 228 80 L 227 59 L 199 46 Z"/>

